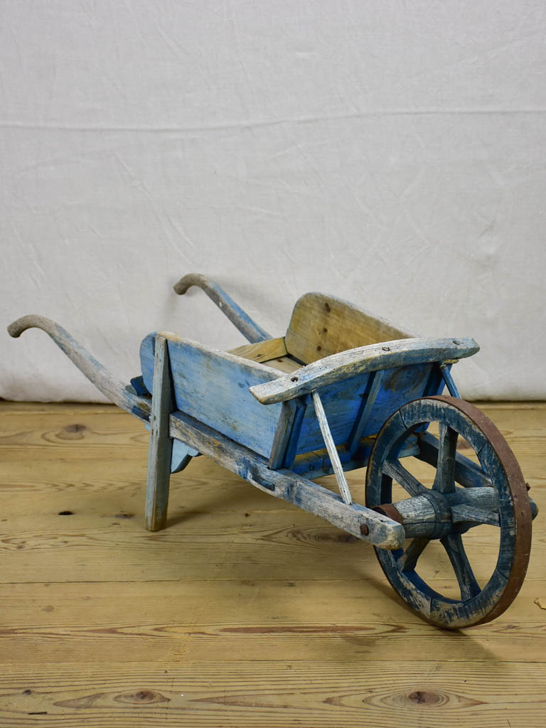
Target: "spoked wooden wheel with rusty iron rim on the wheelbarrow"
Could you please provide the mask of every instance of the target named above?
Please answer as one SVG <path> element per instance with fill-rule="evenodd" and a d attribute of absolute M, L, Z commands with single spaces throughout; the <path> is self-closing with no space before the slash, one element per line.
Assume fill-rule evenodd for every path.
<path fill-rule="evenodd" d="M 439 438 L 426 431 L 432 422 L 438 423 Z M 479 464 L 456 451 L 459 435 Z M 408 438 L 416 438 L 416 457 L 436 467 L 432 488 L 425 488 L 398 459 Z M 395 504 L 393 480 L 409 496 Z M 403 523 L 404 548 L 376 548 L 376 554 L 392 587 L 427 620 L 444 628 L 469 627 L 493 620 L 512 604 L 529 561 L 531 501 L 513 452 L 478 408 L 455 397 L 423 397 L 397 410 L 371 451 L 366 505 Z M 462 534 L 483 523 L 498 526 L 500 538 L 494 571 L 480 587 Z M 432 539 L 447 552 L 460 599 L 443 596 L 419 577 L 419 557 Z"/>

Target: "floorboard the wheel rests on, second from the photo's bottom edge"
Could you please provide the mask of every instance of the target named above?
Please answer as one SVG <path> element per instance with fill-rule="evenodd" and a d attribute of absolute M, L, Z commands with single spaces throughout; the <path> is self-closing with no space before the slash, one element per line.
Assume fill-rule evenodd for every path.
<path fill-rule="evenodd" d="M 510 620 L 479 625 L 456 638 L 420 620 L 383 590 L 354 583 L 345 593 L 343 580 L 76 586 L 46 582 L 32 590 L 30 585 L 4 588 L 3 663 L 62 664 L 83 658 L 91 663 L 351 662 L 370 654 L 387 663 L 404 654 L 419 670 L 430 661 L 431 648 L 436 660 L 446 662 L 466 660 L 469 654 L 483 662 L 544 659 L 545 620 L 528 598 L 536 590 L 532 581 Z"/>

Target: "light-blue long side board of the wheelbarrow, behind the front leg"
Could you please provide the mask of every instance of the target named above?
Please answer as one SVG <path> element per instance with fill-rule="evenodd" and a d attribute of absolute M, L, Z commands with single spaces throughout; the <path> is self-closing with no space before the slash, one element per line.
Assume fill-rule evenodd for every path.
<path fill-rule="evenodd" d="M 229 360 L 199 344 L 170 340 L 167 344 L 176 408 L 268 457 L 281 405 L 262 405 L 248 388 L 271 381 L 277 374 Z M 144 384 L 151 391 L 154 334 L 141 344 L 141 366 Z"/>

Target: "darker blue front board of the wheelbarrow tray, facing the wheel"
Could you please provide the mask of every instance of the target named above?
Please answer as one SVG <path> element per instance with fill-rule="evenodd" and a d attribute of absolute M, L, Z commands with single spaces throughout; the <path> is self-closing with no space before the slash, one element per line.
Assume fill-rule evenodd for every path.
<path fill-rule="evenodd" d="M 438 364 L 413 364 L 387 369 L 362 437 L 375 435 L 389 416 L 406 402 L 423 397 L 425 394 L 440 394 L 443 389 L 443 379 L 441 375 L 435 376 L 434 368 L 438 369 Z M 349 440 L 369 376 L 369 373 L 360 374 L 318 390 L 336 445 L 342 445 Z M 308 407 L 301 426 L 297 454 L 323 447 L 323 437 L 317 418 L 313 408 Z"/>

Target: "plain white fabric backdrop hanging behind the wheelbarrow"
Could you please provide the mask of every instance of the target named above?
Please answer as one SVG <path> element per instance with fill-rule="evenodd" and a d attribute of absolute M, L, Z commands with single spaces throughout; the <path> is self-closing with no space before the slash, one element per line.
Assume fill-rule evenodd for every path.
<path fill-rule="evenodd" d="M 474 336 L 469 398 L 546 397 L 542 0 L 3 0 L 1 312 L 127 379 L 149 331 L 284 333 L 333 293 Z M 100 400 L 40 331 L 0 396 Z"/>

